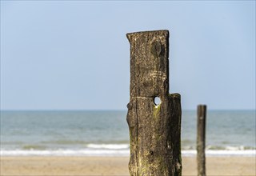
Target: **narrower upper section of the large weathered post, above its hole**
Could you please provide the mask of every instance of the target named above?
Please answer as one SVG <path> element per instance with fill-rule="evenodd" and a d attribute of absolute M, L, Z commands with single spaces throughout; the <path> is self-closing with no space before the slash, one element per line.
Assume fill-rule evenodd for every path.
<path fill-rule="evenodd" d="M 126 34 L 130 42 L 130 96 L 169 94 L 169 31 Z"/>

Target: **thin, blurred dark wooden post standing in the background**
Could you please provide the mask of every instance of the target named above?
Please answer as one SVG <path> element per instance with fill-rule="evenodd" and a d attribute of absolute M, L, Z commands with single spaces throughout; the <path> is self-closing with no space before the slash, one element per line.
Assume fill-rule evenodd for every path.
<path fill-rule="evenodd" d="M 206 105 L 198 105 L 198 176 L 206 176 Z"/>

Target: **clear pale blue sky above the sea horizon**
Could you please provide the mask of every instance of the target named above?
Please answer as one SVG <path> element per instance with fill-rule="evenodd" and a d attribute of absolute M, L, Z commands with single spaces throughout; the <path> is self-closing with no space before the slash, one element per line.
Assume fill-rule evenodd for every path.
<path fill-rule="evenodd" d="M 1 1 L 2 110 L 126 110 L 126 33 L 170 30 L 182 109 L 255 109 L 255 1 Z"/>

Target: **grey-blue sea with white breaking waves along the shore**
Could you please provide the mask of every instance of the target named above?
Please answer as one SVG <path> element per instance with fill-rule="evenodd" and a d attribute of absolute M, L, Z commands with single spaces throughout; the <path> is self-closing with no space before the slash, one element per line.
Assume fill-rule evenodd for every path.
<path fill-rule="evenodd" d="M 129 156 L 126 110 L 2 110 L 0 156 Z M 206 156 L 256 156 L 255 110 L 208 110 Z M 197 113 L 182 111 L 182 156 L 196 155 Z"/>

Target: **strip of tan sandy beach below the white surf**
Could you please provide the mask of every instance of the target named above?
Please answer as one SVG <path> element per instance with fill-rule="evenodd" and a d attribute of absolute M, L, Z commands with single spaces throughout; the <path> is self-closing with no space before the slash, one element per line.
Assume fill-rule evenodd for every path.
<path fill-rule="evenodd" d="M 128 157 L 1 157 L 1 175 L 129 175 Z M 196 158 L 182 158 L 182 175 L 196 175 Z M 207 175 L 256 175 L 254 157 L 208 157 Z"/>

